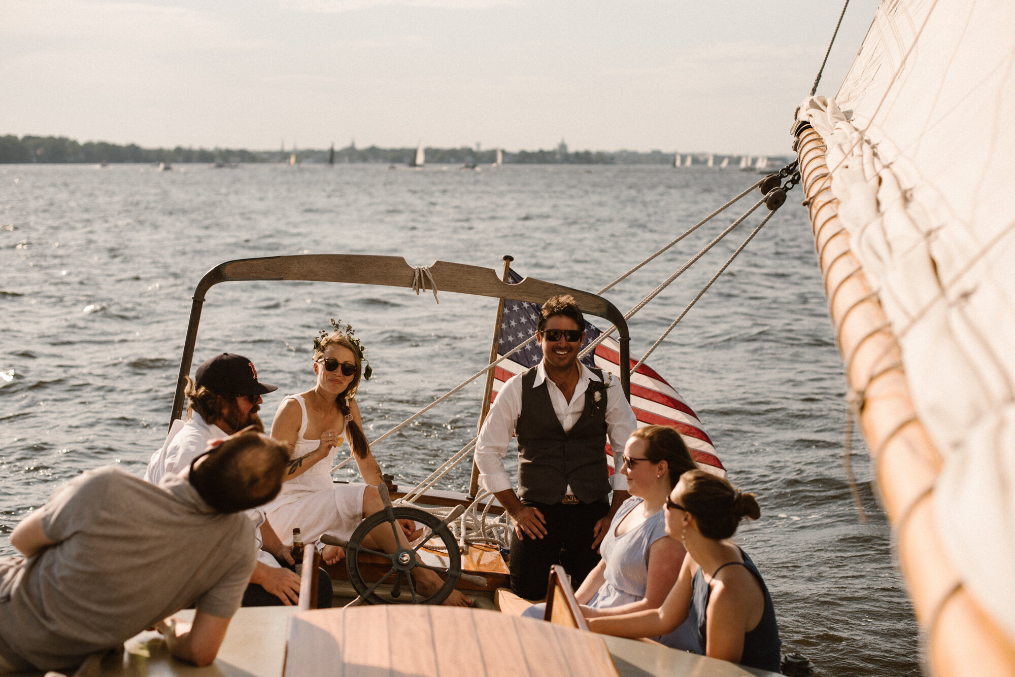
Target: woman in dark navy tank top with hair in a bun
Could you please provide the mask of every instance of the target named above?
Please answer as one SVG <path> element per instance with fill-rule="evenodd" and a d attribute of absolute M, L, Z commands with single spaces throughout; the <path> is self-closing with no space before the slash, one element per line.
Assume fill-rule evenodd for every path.
<path fill-rule="evenodd" d="M 666 501 L 666 532 L 687 549 L 680 576 L 659 609 L 589 620 L 596 632 L 653 636 L 689 619 L 705 656 L 780 671 L 779 625 L 771 596 L 747 553 L 728 540 L 744 517 L 761 515 L 753 494 L 691 470 Z"/>

